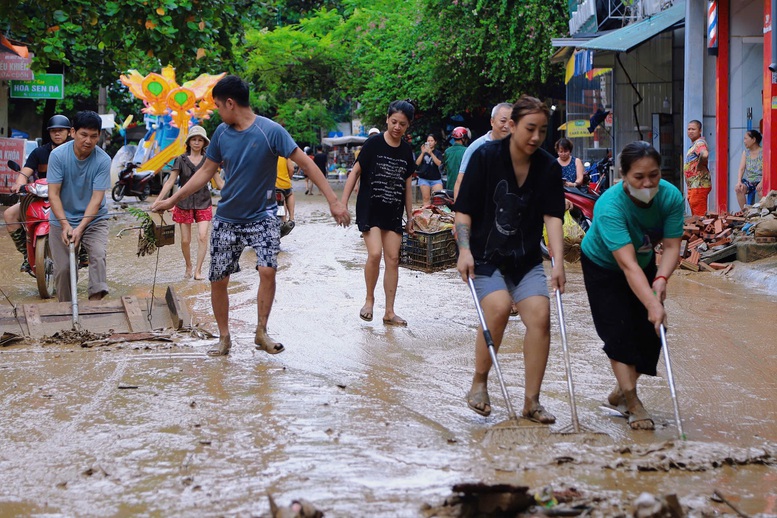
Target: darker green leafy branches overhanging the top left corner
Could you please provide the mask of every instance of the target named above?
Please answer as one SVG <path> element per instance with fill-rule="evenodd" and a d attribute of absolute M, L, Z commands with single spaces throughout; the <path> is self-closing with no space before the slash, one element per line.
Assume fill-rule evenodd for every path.
<path fill-rule="evenodd" d="M 231 0 L 21 0 L 0 4 L 0 27 L 27 42 L 34 70 L 64 70 L 68 86 L 96 89 L 131 68 L 220 72 L 230 37 L 242 34 L 238 8 Z"/>

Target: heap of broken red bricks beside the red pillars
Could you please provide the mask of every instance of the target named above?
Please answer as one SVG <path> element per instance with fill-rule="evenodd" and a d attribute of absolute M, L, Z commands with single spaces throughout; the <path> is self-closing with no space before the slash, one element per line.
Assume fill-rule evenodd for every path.
<path fill-rule="evenodd" d="M 734 228 L 744 222 L 744 217 L 726 213 L 686 218 L 680 243 L 680 268 L 694 272 L 731 269 L 731 263 L 716 261 L 736 254 L 732 243 Z"/>

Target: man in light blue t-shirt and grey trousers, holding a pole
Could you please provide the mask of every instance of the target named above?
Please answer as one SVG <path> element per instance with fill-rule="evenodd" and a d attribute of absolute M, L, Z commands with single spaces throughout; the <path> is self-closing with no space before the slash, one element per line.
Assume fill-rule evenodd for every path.
<path fill-rule="evenodd" d="M 60 302 L 76 297 L 70 293 L 71 242 L 89 254 L 89 300 L 100 300 L 108 294 L 105 191 L 111 187 L 111 157 L 97 147 L 101 129 L 102 119 L 95 112 L 78 112 L 70 130 L 73 140 L 58 146 L 49 156 L 49 246 Z"/>

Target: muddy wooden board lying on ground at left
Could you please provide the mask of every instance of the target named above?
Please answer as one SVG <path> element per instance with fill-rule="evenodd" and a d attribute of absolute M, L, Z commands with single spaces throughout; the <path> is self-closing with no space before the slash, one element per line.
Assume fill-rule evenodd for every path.
<path fill-rule="evenodd" d="M 170 286 L 164 297 L 154 297 L 149 322 L 150 299 L 121 297 L 100 301 L 78 301 L 78 320 L 81 329 L 92 333 L 144 332 L 154 329 L 181 329 L 190 318 L 186 305 Z M 32 338 L 52 336 L 73 328 L 73 308 L 70 302 L 40 301 L 22 304 L 15 309 L 0 306 L 0 334 L 22 334 Z"/>

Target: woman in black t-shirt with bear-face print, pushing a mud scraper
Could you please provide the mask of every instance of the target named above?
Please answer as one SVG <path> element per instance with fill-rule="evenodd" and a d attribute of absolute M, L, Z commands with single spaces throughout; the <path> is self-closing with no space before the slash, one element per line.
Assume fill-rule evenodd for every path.
<path fill-rule="evenodd" d="M 522 414 L 545 424 L 556 418 L 540 404 L 550 349 L 550 301 L 540 253 L 543 223 L 550 249 L 559 251 L 551 284 L 563 292 L 566 282 L 560 255 L 561 166 L 539 147 L 547 134 L 549 115 L 539 99 L 522 96 L 513 105 L 511 135 L 484 144 L 472 155 L 454 207 L 461 278 L 465 282 L 473 279 L 497 349 L 515 301 L 526 326 Z M 475 341 L 475 375 L 467 404 L 484 416 L 491 413 L 489 370 L 491 358 L 481 332 Z"/>

